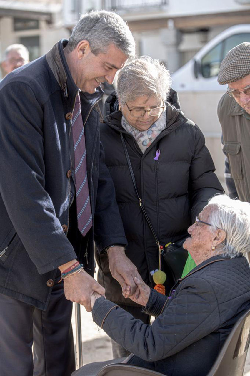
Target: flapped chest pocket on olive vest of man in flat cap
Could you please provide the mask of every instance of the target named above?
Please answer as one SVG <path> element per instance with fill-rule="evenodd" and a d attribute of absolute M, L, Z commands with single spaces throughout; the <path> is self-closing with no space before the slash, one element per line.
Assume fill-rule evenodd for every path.
<path fill-rule="evenodd" d="M 227 154 L 229 159 L 231 177 L 242 179 L 241 143 L 227 142 L 223 146 L 223 152 Z"/>

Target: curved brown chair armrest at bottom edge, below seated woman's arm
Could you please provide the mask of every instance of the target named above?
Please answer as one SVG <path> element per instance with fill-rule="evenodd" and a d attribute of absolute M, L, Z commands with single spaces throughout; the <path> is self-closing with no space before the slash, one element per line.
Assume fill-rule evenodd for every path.
<path fill-rule="evenodd" d="M 146 368 L 137 367 L 130 364 L 108 364 L 105 365 L 97 374 L 97 376 L 164 376 L 163 373 L 148 370 Z"/>

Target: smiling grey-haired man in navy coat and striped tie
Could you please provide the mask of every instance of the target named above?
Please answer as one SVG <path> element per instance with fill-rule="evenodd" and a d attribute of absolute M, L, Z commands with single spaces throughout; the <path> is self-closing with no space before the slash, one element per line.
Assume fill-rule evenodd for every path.
<path fill-rule="evenodd" d="M 1 83 L 2 375 L 33 374 L 33 338 L 34 374 L 72 373 L 71 302 L 89 311 L 93 291 L 105 292 L 92 277 L 93 239 L 122 287 L 135 290 L 96 107 L 101 82 L 112 83 L 134 52 L 119 16 L 92 12 L 69 41 Z"/>

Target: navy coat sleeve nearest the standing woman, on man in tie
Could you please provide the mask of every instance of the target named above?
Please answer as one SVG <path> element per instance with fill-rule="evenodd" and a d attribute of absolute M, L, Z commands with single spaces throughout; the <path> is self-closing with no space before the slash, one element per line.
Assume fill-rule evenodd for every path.
<path fill-rule="evenodd" d="M 120 217 L 113 180 L 104 162 L 100 143 L 98 191 L 95 206 L 94 239 L 99 252 L 112 244 L 127 244 Z"/>

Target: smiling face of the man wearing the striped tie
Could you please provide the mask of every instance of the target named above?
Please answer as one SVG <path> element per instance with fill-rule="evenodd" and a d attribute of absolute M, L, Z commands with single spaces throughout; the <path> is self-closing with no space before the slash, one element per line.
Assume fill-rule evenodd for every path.
<path fill-rule="evenodd" d="M 98 55 L 94 55 L 89 45 L 85 45 L 72 77 L 78 88 L 93 94 L 102 82 L 113 83 L 116 72 L 122 69 L 127 59 L 114 44 L 108 46 L 106 53 Z"/>

